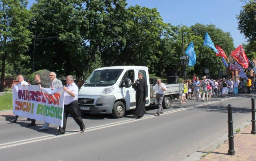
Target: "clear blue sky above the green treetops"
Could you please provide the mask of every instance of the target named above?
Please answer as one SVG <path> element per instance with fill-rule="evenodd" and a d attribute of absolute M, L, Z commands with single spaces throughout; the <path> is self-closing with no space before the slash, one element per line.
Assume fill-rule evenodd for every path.
<path fill-rule="evenodd" d="M 157 8 L 163 22 L 175 26 L 183 24 L 190 27 L 197 23 L 213 24 L 224 32 L 230 32 L 235 47 L 246 42 L 243 34 L 237 29 L 236 15 L 240 13 L 241 6 L 244 5 L 239 0 L 126 0 L 126 2 L 127 7 L 140 5 Z M 28 0 L 28 8 L 33 3 L 35 3 L 34 0 Z"/>

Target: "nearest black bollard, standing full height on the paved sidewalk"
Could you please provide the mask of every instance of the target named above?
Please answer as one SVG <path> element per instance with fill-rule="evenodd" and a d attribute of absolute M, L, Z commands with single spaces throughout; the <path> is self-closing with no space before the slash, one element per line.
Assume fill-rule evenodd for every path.
<path fill-rule="evenodd" d="M 234 156 L 234 134 L 233 134 L 233 118 L 232 118 L 232 105 L 228 105 L 228 155 Z"/>

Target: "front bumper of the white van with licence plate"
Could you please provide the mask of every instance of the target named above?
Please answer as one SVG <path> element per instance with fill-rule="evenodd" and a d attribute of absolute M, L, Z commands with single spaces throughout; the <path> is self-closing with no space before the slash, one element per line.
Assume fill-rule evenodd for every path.
<path fill-rule="evenodd" d="M 86 101 L 84 103 L 84 100 L 91 99 L 94 99 L 93 104 L 86 103 Z M 88 114 L 111 114 L 115 100 L 115 96 L 78 96 L 78 109 L 80 112 Z"/>

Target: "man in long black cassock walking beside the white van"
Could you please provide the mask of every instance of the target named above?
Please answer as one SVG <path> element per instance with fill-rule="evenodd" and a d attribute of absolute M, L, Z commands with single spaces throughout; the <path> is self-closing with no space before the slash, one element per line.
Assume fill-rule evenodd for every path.
<path fill-rule="evenodd" d="M 135 80 L 132 88 L 136 91 L 136 108 L 134 116 L 141 118 L 146 114 L 145 104 L 146 98 L 148 97 L 148 84 L 147 81 L 143 79 L 143 73 L 138 73 L 139 80 Z"/>

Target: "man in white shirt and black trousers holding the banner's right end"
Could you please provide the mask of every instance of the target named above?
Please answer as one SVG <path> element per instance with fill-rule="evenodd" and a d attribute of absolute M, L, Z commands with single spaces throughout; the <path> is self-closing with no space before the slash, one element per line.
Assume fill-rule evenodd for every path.
<path fill-rule="evenodd" d="M 67 76 L 67 87 L 63 86 L 64 92 L 64 112 L 63 112 L 63 127 L 59 127 L 59 131 L 56 135 L 65 134 L 67 118 L 69 114 L 76 121 L 76 123 L 80 127 L 79 132 L 83 132 L 85 130 L 85 126 L 83 124 L 83 120 L 81 116 L 78 115 L 78 87 L 76 83 L 74 83 L 73 76 Z"/>

